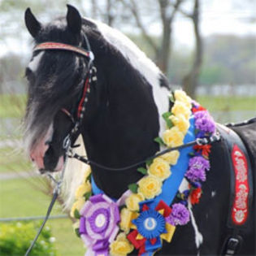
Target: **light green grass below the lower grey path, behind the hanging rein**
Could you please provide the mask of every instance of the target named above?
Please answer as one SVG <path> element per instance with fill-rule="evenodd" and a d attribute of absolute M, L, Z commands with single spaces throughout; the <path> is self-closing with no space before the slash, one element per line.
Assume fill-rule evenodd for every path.
<path fill-rule="evenodd" d="M 43 186 L 41 178 L 28 180 L 2 180 L 0 181 L 0 217 L 24 217 L 46 215 L 50 197 L 41 193 L 33 186 Z M 51 215 L 63 214 L 61 206 L 57 203 Z M 76 237 L 70 219 L 50 219 L 47 225 L 52 229 L 56 238 L 56 248 L 60 255 L 84 255 L 83 243 Z"/>

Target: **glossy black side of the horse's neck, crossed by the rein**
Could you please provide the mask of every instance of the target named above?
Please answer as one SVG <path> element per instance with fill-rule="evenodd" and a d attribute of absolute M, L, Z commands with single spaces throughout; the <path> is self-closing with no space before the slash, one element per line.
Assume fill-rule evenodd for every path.
<path fill-rule="evenodd" d="M 98 74 L 107 81 L 102 85 L 98 75 L 96 86 L 105 88 L 104 96 L 90 124 L 85 121 L 82 134 L 89 159 L 106 167 L 125 167 L 158 151 L 154 142 L 159 132 L 158 109 L 152 86 L 124 57 L 104 59 L 106 63 L 95 62 Z M 137 167 L 106 171 L 92 165 L 92 170 L 98 187 L 111 197 L 119 197 L 128 184 L 141 178 Z"/>

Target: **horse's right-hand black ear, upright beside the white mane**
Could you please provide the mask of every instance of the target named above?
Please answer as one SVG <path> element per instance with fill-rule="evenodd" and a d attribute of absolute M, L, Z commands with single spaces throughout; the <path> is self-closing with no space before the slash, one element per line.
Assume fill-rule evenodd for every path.
<path fill-rule="evenodd" d="M 67 28 L 69 28 L 72 33 L 79 34 L 82 26 L 82 18 L 79 11 L 75 7 L 67 4 Z"/>

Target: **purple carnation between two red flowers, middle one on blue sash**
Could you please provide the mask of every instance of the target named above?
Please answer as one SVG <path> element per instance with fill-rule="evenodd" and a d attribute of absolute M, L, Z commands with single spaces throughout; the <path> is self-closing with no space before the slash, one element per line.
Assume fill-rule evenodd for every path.
<path fill-rule="evenodd" d="M 210 163 L 202 156 L 195 156 L 189 159 L 189 170 L 185 176 L 192 181 L 206 180 L 206 171 L 209 171 Z"/>

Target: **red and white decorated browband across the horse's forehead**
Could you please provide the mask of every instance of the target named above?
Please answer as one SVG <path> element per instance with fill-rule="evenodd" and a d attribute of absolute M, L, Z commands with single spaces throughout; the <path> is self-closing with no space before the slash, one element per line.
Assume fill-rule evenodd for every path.
<path fill-rule="evenodd" d="M 71 46 L 59 42 L 54 41 L 46 41 L 37 45 L 34 50 L 70 50 L 76 52 L 77 54 L 81 54 L 87 58 L 93 59 L 92 52 L 84 50 L 80 47 Z"/>

